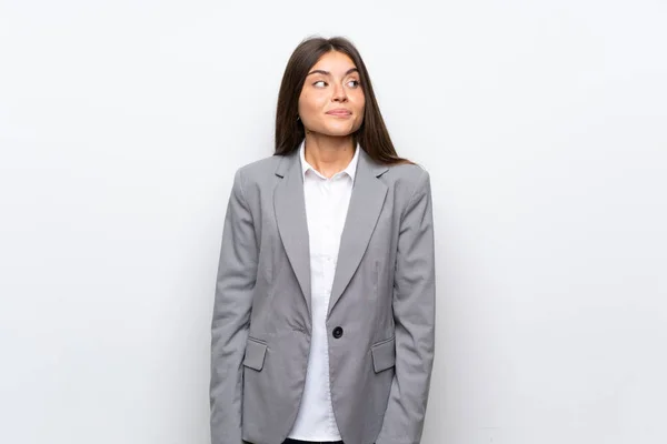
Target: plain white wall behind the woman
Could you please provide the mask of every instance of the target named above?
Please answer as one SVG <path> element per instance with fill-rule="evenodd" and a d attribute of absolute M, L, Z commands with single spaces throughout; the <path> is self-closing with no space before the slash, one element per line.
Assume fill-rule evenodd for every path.
<path fill-rule="evenodd" d="M 359 47 L 431 173 L 424 443 L 667 442 L 667 6 L 0 1 L 0 442 L 209 442 L 233 171 Z"/>

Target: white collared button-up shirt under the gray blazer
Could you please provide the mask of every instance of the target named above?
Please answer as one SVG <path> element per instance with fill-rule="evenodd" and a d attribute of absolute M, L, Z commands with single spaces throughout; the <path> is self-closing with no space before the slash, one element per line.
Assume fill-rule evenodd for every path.
<path fill-rule="evenodd" d="M 328 349 L 330 332 L 327 332 L 326 321 L 340 235 L 352 195 L 359 150 L 357 144 L 348 167 L 331 179 L 327 179 L 306 162 L 305 142 L 301 142 L 299 148 L 310 240 L 312 336 L 303 396 L 289 434 L 292 440 L 340 440 L 331 405 Z"/>

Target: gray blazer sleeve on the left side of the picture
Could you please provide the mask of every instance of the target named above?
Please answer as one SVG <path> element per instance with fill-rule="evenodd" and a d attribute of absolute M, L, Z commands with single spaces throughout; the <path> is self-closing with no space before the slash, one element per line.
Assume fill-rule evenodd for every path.
<path fill-rule="evenodd" d="M 243 195 L 241 170 L 235 174 L 222 229 L 211 324 L 211 444 L 240 444 L 242 360 L 250 326 L 258 244 Z"/>

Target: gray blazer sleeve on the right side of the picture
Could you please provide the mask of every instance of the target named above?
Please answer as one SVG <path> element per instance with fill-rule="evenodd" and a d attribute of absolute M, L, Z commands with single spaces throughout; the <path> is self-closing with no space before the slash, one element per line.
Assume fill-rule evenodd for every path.
<path fill-rule="evenodd" d="M 396 370 L 377 444 L 418 444 L 434 362 L 436 312 L 432 204 L 426 170 L 401 216 L 392 307 Z"/>

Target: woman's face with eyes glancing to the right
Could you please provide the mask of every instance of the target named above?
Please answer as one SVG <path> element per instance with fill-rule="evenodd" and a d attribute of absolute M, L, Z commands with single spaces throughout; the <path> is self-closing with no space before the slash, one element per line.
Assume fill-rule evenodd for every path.
<path fill-rule="evenodd" d="M 361 127 L 365 104 L 352 59 L 329 51 L 308 71 L 299 97 L 299 117 L 308 131 L 345 137 Z"/>

